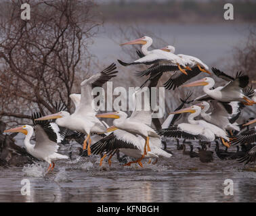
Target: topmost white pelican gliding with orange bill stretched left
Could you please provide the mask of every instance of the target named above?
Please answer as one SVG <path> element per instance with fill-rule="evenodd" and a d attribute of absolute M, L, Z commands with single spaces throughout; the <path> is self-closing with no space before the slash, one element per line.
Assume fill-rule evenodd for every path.
<path fill-rule="evenodd" d="M 187 72 L 183 68 L 188 68 L 186 66 L 186 62 L 177 55 L 173 53 L 167 53 L 161 49 L 154 49 L 152 51 L 148 51 L 148 47 L 152 45 L 152 38 L 149 36 L 144 36 L 142 38 L 137 38 L 133 41 L 129 41 L 127 43 L 123 43 L 121 45 L 136 45 L 141 44 L 142 45 L 142 53 L 145 55 L 144 57 L 141 57 L 140 59 L 137 59 L 136 61 L 133 61 L 131 63 L 125 63 L 118 59 L 119 63 L 121 65 L 127 66 L 127 65 L 135 65 L 135 64 L 146 64 L 150 65 L 152 63 L 171 63 L 184 74 L 187 75 Z M 181 66 L 183 68 L 181 68 Z"/>

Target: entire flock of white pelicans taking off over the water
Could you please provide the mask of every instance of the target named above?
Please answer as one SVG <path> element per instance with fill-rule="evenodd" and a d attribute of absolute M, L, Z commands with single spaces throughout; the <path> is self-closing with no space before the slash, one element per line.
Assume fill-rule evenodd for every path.
<path fill-rule="evenodd" d="M 251 149 L 239 160 L 246 163 L 255 161 L 256 146 L 253 144 L 256 142 L 256 127 L 249 128 L 249 126 L 255 124 L 256 120 L 253 119 L 242 125 L 236 123 L 242 108 L 256 103 L 256 91 L 249 87 L 249 76 L 239 72 L 232 77 L 212 68 L 215 76 L 226 80 L 227 83 L 224 86 L 215 86 L 216 82 L 211 77 L 185 84 L 201 72 L 211 74 L 209 67 L 191 55 L 175 54 L 175 47 L 170 45 L 149 51 L 148 48 L 152 45 L 152 38 L 149 36 L 121 45 L 136 44 L 142 45 L 141 51 L 137 51 L 139 59 L 131 63 L 118 61 L 124 66 L 149 65 L 148 69 L 136 73 L 140 77 L 148 76 L 142 86 L 147 82 L 150 82 L 149 86 L 156 86 L 162 74 L 168 72 L 170 77 L 164 84 L 167 90 L 203 86 L 202 90 L 205 94 L 190 102 L 183 101 L 182 106 L 169 114 L 161 128 L 152 127 L 152 111 L 138 111 L 136 105 L 130 116 L 125 111 L 100 113 L 94 104 L 91 92 L 94 87 L 102 86 L 117 75 L 116 64 L 112 63 L 102 72 L 83 80 L 81 94 L 70 94 L 70 99 L 75 105 L 74 113 L 58 111 L 46 116 L 36 113 L 32 117 L 33 126 L 24 125 L 5 130 L 5 132 L 25 134 L 26 151 L 33 157 L 49 163 L 48 171 L 54 169 L 54 161 L 68 159 L 68 156 L 58 153 L 59 144 L 65 138 L 60 128 L 84 134 L 83 151 L 87 155 L 101 155 L 100 165 L 105 157 L 108 157 L 108 163 L 111 165 L 111 158 L 117 152 L 134 158 L 125 165 L 137 163 L 141 167 L 143 167 L 142 160 L 146 158 L 150 159 L 148 163 L 151 163 L 151 159 L 154 159 L 152 163 L 156 163 L 159 157 L 171 158 L 172 153 L 163 149 L 166 138 L 182 138 L 199 142 L 220 140 L 226 148 L 235 144 L 251 144 Z M 133 99 L 141 93 L 142 86 L 134 93 Z M 183 108 L 185 104 L 192 102 L 194 105 Z M 175 124 L 182 113 L 190 113 L 188 122 Z M 112 126 L 108 126 L 101 120 L 102 118 L 113 118 Z M 34 133 L 35 144 L 31 144 L 30 139 Z M 193 149 L 193 146 L 190 147 Z M 219 144 L 216 148 L 219 153 Z M 182 149 L 186 153 L 186 146 Z M 203 151 L 205 151 L 204 146 L 199 148 L 198 154 L 200 155 Z"/>

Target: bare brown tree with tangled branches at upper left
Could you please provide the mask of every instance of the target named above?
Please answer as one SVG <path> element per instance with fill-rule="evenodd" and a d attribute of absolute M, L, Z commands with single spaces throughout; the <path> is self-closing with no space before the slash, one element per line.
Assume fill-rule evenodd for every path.
<path fill-rule="evenodd" d="M 0 20 L 0 116 L 17 124 L 35 109 L 54 113 L 56 101 L 70 111 L 68 96 L 89 71 L 87 47 L 100 25 L 91 1 L 26 1 L 26 21 L 20 18 L 22 3 L 1 3 L 8 13 Z"/>

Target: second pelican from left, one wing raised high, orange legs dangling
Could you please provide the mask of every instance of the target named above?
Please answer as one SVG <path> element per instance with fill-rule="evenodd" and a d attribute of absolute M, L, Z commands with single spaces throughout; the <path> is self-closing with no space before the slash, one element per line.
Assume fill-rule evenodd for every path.
<path fill-rule="evenodd" d="M 70 115 L 67 111 L 60 111 L 45 117 L 40 117 L 37 120 L 56 119 L 56 124 L 70 130 L 77 130 L 83 134 L 87 134 L 85 141 L 83 142 L 83 149 L 87 147 L 88 143 L 88 155 L 91 154 L 91 137 L 90 133 L 104 133 L 106 127 L 102 122 L 95 116 L 97 111 L 93 107 L 93 96 L 91 95 L 94 86 L 102 86 L 105 82 L 116 76 L 117 71 L 116 65 L 112 63 L 108 68 L 95 74 L 81 82 L 81 102 L 77 104 L 78 95 L 71 95 L 72 101 L 77 105 L 77 109 Z M 74 99 L 75 98 L 75 99 Z"/>

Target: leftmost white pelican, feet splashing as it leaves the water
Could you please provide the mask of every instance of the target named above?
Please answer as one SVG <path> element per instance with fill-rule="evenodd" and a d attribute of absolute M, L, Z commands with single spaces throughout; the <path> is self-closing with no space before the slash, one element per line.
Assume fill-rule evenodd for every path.
<path fill-rule="evenodd" d="M 5 130 L 4 132 L 20 132 L 25 134 L 24 145 L 26 151 L 30 153 L 30 155 L 33 155 L 33 157 L 49 163 L 47 171 L 50 169 L 52 171 L 55 167 L 54 161 L 58 161 L 59 159 L 68 159 L 68 156 L 57 153 L 59 146 L 56 142 L 58 141 L 58 136 L 60 136 L 60 134 L 56 134 L 56 130 L 49 121 L 42 123 L 40 121 L 33 120 L 33 123 L 34 128 L 33 126 L 24 125 L 22 127 Z M 34 129 L 35 144 L 31 144 L 30 138 L 34 134 Z"/>

